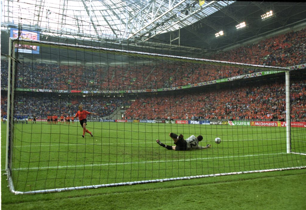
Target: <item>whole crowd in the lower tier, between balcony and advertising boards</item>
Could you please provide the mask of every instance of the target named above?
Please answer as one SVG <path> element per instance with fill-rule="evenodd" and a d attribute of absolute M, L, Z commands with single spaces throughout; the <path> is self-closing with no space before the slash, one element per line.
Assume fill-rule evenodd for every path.
<path fill-rule="evenodd" d="M 306 119 L 306 80 L 290 85 L 291 117 Z M 277 81 L 210 92 L 147 96 L 137 99 L 103 96 L 48 97 L 18 94 L 14 114 L 72 116 L 83 104 L 85 110 L 107 117 L 123 104 L 125 119 L 281 119 L 286 118 L 285 88 Z M 1 96 L 1 113 L 6 114 L 7 97 Z"/>

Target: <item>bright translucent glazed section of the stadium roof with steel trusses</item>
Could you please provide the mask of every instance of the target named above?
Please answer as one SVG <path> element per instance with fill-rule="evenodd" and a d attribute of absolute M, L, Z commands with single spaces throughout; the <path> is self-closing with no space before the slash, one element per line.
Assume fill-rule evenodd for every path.
<path fill-rule="evenodd" d="M 233 2 L 205 1 L 200 6 L 194 0 L 3 0 L 1 24 L 2 28 L 28 25 L 57 36 L 143 42 L 191 25 Z"/>

